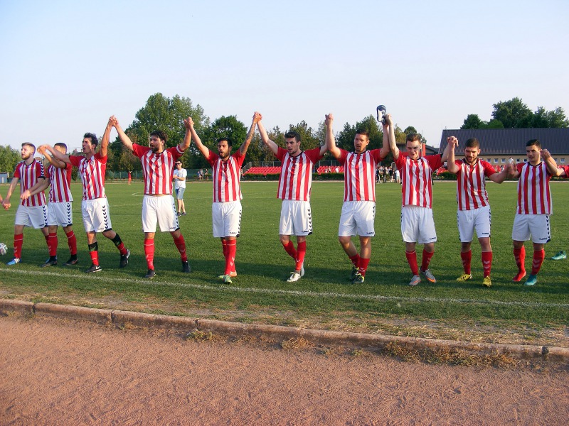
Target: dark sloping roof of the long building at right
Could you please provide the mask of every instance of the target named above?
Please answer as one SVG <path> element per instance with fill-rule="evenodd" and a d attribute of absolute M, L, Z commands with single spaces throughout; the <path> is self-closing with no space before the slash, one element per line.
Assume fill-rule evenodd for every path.
<path fill-rule="evenodd" d="M 526 142 L 538 139 L 541 147 L 553 155 L 569 154 L 569 129 L 445 129 L 439 152 L 447 148 L 447 138 L 456 136 L 462 151 L 469 138 L 480 141 L 480 155 L 526 155 Z"/>

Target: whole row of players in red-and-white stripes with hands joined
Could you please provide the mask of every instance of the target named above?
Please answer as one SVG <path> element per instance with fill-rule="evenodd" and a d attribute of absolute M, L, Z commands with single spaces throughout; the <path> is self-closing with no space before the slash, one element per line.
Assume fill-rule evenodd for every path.
<path fill-rule="evenodd" d="M 213 169 L 213 236 L 220 239 L 225 258 L 225 269 L 219 278 L 224 283 L 232 283 L 232 278 L 238 275 L 235 256 L 242 215 L 241 168 L 255 129 L 258 129 L 262 143 L 282 164 L 277 184 L 277 198 L 282 200 L 279 236 L 285 252 L 294 261 L 294 271 L 290 273 L 287 282 L 294 283 L 304 276 L 307 236 L 312 234 L 312 175 L 314 165 L 329 151 L 344 169 L 344 204 L 340 214 L 338 239 L 351 261 L 349 278 L 354 284 L 363 283 L 366 279 L 371 259 L 371 237 L 375 236 L 376 170 L 381 167 L 381 161 L 389 153 L 393 154 L 402 188 L 400 225 L 405 257 L 412 274 L 409 285 L 418 285 L 422 278 L 430 283 L 437 281 L 435 273 L 429 268 L 437 241 L 432 214 L 432 173 L 445 162 L 450 173 L 457 175 L 457 224 L 461 243 L 460 258 L 464 269 L 457 281 L 472 280 L 471 244 L 476 231 L 482 249 L 482 285 L 486 288 L 492 285 L 491 209 L 486 193 L 486 179 L 501 183 L 506 178 L 519 178 L 518 204 L 512 229 L 513 255 L 518 271 L 513 280 L 521 282 L 527 275 L 525 285 L 537 283 L 537 275 L 545 258 L 544 247 L 551 239 L 549 215 L 552 214 L 552 200 L 549 180 L 554 176 L 569 176 L 569 167 L 558 168 L 551 154 L 541 148 L 539 141 L 531 140 L 526 143 L 526 163 L 509 163 L 504 170 L 497 173 L 489 163 L 478 158 L 481 147 L 475 138 L 465 142 L 464 158 L 459 160 L 455 158 L 459 141 L 454 136 L 447 139 L 444 153 L 422 155 L 420 135 L 410 133 L 406 136 L 406 152 L 403 153 L 395 143 L 393 119 L 390 114 L 386 114 L 383 121 L 383 146 L 368 150 L 368 131 L 357 129 L 353 151 L 349 152 L 336 147 L 333 123 L 334 116 L 327 114 L 324 121 L 324 145 L 307 151 L 302 151 L 302 141 L 295 131 L 285 133 L 284 148 L 277 146 L 277 143 L 269 138 L 259 112 L 253 114 L 245 141 L 235 153 L 232 153 L 233 141 L 228 138 L 218 139 L 217 152 L 206 147 L 194 129 L 191 117 L 184 120 L 186 133 L 183 141 L 172 148 L 166 148 L 167 136 L 162 131 L 150 133 L 149 146 L 132 143 L 115 116 L 110 117 L 100 143 L 95 134 L 85 133 L 82 143 L 84 155 L 68 155 L 67 147 L 63 143 L 55 143 L 54 146 L 41 145 L 37 151 L 44 155 L 44 164 L 34 158 L 36 147 L 31 143 L 23 143 L 22 161 L 16 165 L 6 197 L 2 199 L 0 196 L 4 209 L 9 209 L 11 196 L 18 182 L 20 183 L 21 202 L 14 222 L 14 258 L 7 265 L 13 266 L 21 262 L 23 230 L 26 226 L 41 229 L 45 236 L 49 258 L 41 267 L 58 264 L 58 226 L 63 228 L 67 236 L 70 251 L 70 258 L 63 265 L 72 266 L 78 263 L 71 208 L 73 197 L 70 192 L 73 166 L 78 168 L 83 185 L 81 211 L 91 259 L 91 266 L 85 272 L 102 271 L 97 233 L 110 239 L 117 247 L 119 268 L 128 265 L 130 250 L 117 231 L 112 229 L 110 206 L 105 195 L 107 148 L 110 133 L 115 129 L 122 145 L 136 155 L 142 164 L 142 231 L 144 257 L 147 262 L 145 278 L 151 279 L 156 275 L 154 236 L 157 226 L 161 232 L 168 231 L 171 234 L 180 255 L 181 271 L 191 271 L 186 242 L 179 226 L 179 216 L 186 214 L 183 200 L 186 170 L 181 168 L 179 158 L 193 141 Z M 48 187 L 46 200 L 44 191 Z M 354 236 L 358 237 L 359 249 L 353 242 Z M 528 274 L 523 244 L 529 240 L 533 243 L 533 260 Z M 420 263 L 417 244 L 422 245 Z"/>

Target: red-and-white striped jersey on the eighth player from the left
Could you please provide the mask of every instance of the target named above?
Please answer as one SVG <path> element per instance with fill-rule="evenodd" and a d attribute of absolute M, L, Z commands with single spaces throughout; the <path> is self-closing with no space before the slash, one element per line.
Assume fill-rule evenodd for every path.
<path fill-rule="evenodd" d="M 401 173 L 401 204 L 432 209 L 432 173 L 442 165 L 441 155 L 425 155 L 411 160 L 407 153 L 399 153 L 395 166 Z"/>

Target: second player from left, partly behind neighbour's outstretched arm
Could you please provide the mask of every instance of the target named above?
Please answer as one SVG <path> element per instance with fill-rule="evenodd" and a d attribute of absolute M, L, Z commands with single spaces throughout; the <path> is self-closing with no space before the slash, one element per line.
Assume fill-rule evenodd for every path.
<path fill-rule="evenodd" d="M 53 148 L 60 153 L 67 153 L 67 146 L 65 143 L 55 143 Z M 36 185 L 29 188 L 21 195 L 22 200 L 28 197 L 43 192 L 48 186 L 49 189 L 49 203 L 48 203 L 48 239 L 49 258 L 46 263 L 43 263 L 42 268 L 47 266 L 55 266 L 58 264 L 58 226 L 63 228 L 70 252 L 70 258 L 63 266 L 71 266 L 78 263 L 77 258 L 77 237 L 73 232 L 73 209 L 71 203 L 73 196 L 71 195 L 71 171 L 73 166 L 61 160 L 53 158 L 49 153 L 38 148 L 38 153 L 43 154 L 48 160 L 49 164 L 46 168 L 46 179 L 40 180 Z"/>

